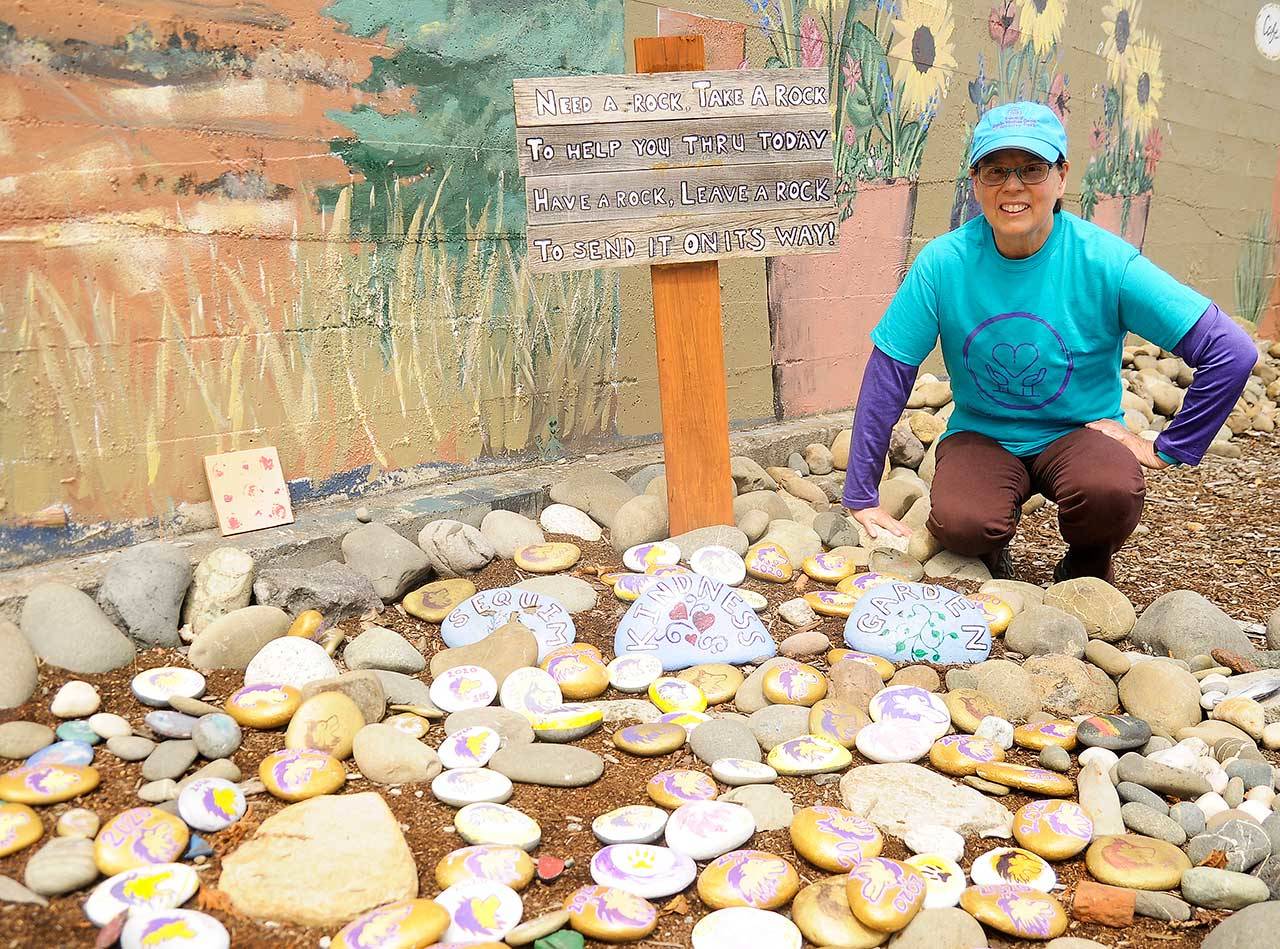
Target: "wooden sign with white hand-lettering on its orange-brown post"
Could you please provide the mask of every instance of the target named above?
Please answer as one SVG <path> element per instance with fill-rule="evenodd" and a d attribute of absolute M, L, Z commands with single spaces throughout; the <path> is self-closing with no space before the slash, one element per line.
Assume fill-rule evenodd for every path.
<path fill-rule="evenodd" d="M 516 79 L 535 273 L 650 264 L 671 534 L 733 524 L 721 257 L 836 248 L 826 69 L 701 72 L 700 36 L 635 41 L 645 76 Z"/>

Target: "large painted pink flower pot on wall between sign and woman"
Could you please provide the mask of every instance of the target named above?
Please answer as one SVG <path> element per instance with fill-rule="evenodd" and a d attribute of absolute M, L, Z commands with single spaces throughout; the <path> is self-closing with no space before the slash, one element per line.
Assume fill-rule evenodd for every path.
<path fill-rule="evenodd" d="M 859 182 L 833 254 L 772 257 L 769 324 L 778 418 L 849 409 L 868 338 L 906 273 L 915 182 Z"/>

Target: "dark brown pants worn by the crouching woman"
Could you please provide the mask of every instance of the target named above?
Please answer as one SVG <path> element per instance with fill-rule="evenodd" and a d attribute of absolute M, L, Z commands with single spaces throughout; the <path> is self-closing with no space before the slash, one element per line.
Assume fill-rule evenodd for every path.
<path fill-rule="evenodd" d="M 945 438 L 929 531 L 948 551 L 992 555 L 1012 540 L 1019 508 L 1037 492 L 1059 507 L 1065 578 L 1114 580 L 1111 557 L 1138 526 L 1147 483 L 1133 452 L 1093 429 L 1076 429 L 1023 458 L 974 432 Z"/>

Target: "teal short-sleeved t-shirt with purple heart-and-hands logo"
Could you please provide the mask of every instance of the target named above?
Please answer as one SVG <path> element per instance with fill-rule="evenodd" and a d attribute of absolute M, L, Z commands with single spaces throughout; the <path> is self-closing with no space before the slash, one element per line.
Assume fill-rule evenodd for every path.
<path fill-rule="evenodd" d="M 955 398 L 943 438 L 977 432 L 1025 456 L 1096 419 L 1123 420 L 1125 334 L 1172 350 L 1208 306 L 1068 211 L 1023 260 L 1000 254 L 975 218 L 925 245 L 872 342 L 918 366 L 941 337 Z"/>

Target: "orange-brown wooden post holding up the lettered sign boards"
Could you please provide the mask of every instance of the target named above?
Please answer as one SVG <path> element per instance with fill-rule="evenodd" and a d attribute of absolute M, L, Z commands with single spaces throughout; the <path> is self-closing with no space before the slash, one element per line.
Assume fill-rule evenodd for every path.
<path fill-rule="evenodd" d="M 639 37 L 637 73 L 705 69 L 700 36 Z M 733 524 L 719 264 L 657 264 L 653 323 L 671 534 Z"/>

